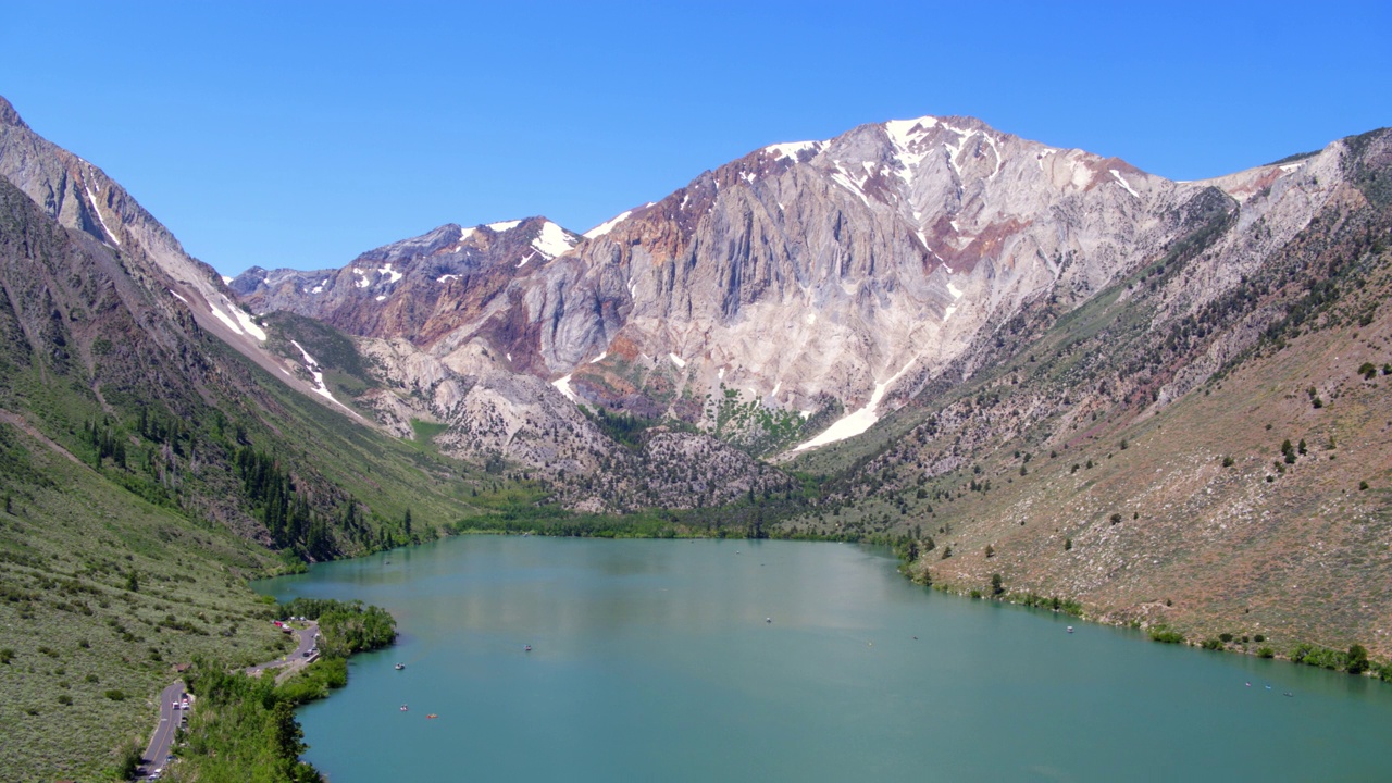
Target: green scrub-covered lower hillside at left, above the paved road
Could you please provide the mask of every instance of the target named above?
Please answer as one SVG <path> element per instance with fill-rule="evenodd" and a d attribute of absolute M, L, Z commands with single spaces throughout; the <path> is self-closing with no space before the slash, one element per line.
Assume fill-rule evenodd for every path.
<path fill-rule="evenodd" d="M 251 662 L 281 649 L 267 606 L 245 585 L 274 559 L 0 429 L 7 453 L 46 479 L 8 475 L 13 513 L 0 513 L 0 648 L 14 651 L 0 665 L 0 768 L 6 780 L 99 777 L 111 751 L 149 738 L 150 699 L 174 679 L 174 662 Z"/>

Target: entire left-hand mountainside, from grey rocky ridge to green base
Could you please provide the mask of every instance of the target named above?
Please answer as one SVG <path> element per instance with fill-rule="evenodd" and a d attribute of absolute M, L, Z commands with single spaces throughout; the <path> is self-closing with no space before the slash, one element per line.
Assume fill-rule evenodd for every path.
<path fill-rule="evenodd" d="M 0 766 L 88 779 L 173 663 L 280 649 L 248 578 L 433 538 L 518 482 L 316 394 L 266 346 L 331 334 L 252 337 L 118 185 L 0 123 Z"/>

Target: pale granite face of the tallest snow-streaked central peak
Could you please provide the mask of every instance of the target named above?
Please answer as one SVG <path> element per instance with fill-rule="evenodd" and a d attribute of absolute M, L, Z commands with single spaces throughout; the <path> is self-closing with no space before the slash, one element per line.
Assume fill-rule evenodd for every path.
<path fill-rule="evenodd" d="M 853 411 L 910 393 L 1027 302 L 1084 301 L 1190 230 L 1203 199 L 974 120 L 863 125 L 636 210 L 558 259 L 528 315 L 554 325 L 547 366 L 607 404 L 626 403 L 606 393 L 617 378 L 643 389 L 674 364 L 696 396 Z M 586 364 L 615 344 L 628 366 Z"/>

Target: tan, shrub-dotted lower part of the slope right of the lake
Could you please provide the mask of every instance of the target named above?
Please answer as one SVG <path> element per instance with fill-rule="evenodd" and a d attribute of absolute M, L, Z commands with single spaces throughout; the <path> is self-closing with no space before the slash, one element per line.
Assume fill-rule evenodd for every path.
<path fill-rule="evenodd" d="M 938 503 L 931 528 L 951 528 L 938 542 L 954 556 L 926 564 L 962 588 L 984 589 L 999 573 L 1012 589 L 1079 598 L 1104 619 L 1166 623 L 1190 638 L 1361 642 L 1386 658 L 1392 383 L 1354 372 L 1392 358 L 1386 336 L 1384 322 L 1371 340 L 1368 329 L 1357 340 L 1347 330 L 1300 337 L 1207 394 L 1104 424 L 1029 463 L 1026 476 L 1013 460 L 987 463 L 990 492 Z M 1317 410 L 1310 385 L 1342 390 Z M 1293 465 L 1285 439 L 1307 443 Z"/>

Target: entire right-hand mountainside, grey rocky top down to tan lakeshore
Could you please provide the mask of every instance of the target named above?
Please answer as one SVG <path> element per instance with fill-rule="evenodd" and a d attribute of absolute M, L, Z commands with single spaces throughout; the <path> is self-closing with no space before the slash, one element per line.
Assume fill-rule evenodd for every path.
<path fill-rule="evenodd" d="M 1031 313 L 967 383 L 803 458 L 839 478 L 786 524 L 908 534 L 940 584 L 999 574 L 1196 644 L 1388 656 L 1389 173 L 1392 134 L 1343 139 L 1204 241 Z"/>

